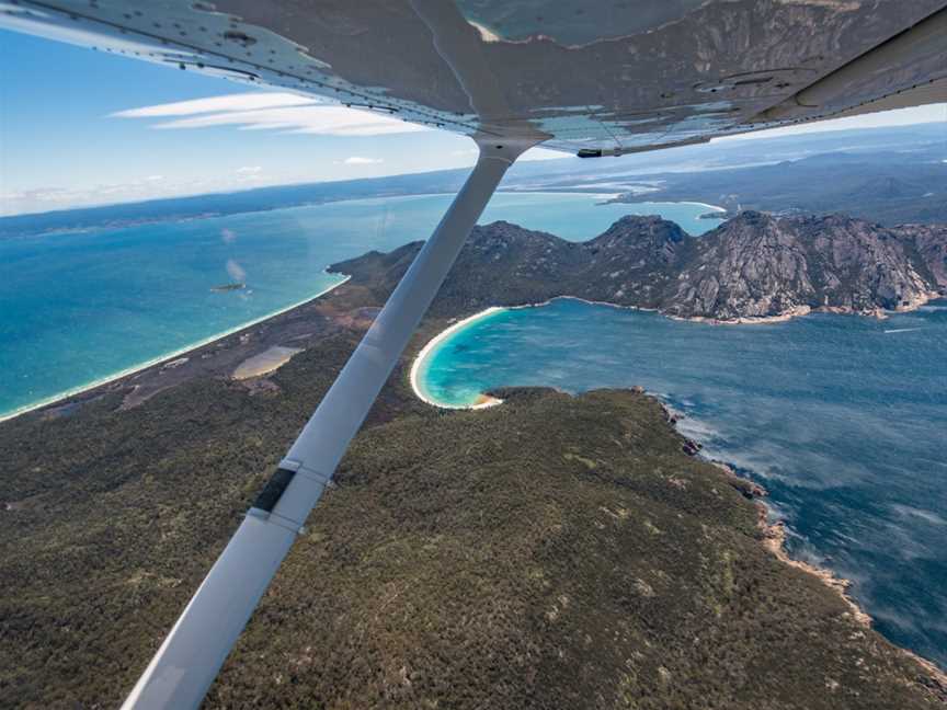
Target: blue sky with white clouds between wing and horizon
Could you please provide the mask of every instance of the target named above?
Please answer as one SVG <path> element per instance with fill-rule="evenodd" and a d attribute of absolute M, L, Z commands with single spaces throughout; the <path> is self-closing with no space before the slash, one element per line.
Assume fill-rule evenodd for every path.
<path fill-rule="evenodd" d="M 404 124 L 294 105 L 300 99 L 285 93 L 261 99 L 259 89 L 224 79 L 7 31 L 0 61 L 0 214 L 474 161 L 469 139 L 452 134 L 395 133 Z M 205 99 L 212 103 L 182 103 Z M 273 105 L 261 110 L 261 101 Z M 169 103 L 175 105 L 162 106 Z M 255 111 L 239 111 L 248 107 Z M 943 104 L 892 113 L 841 127 L 947 119 Z"/>

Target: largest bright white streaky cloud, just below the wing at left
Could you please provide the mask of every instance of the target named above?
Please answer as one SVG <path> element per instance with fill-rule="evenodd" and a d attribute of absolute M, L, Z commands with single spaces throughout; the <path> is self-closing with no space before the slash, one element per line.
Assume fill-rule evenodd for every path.
<path fill-rule="evenodd" d="M 235 126 L 321 136 L 380 136 L 430 130 L 388 115 L 346 108 L 290 93 L 248 93 L 129 108 L 119 118 L 172 118 L 153 124 L 163 130 Z"/>

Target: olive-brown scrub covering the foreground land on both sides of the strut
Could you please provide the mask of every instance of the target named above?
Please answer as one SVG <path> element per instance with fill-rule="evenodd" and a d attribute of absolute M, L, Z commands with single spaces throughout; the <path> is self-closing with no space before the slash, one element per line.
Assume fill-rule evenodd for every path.
<path fill-rule="evenodd" d="M 31 426 L 58 444 L 3 476 L 4 702 L 119 700 L 327 356 L 294 359 L 276 396 L 198 381 L 20 424 L 21 445 Z M 764 550 L 756 509 L 682 451 L 657 401 L 505 396 L 376 419 L 208 707 L 937 707 L 916 664 Z"/>

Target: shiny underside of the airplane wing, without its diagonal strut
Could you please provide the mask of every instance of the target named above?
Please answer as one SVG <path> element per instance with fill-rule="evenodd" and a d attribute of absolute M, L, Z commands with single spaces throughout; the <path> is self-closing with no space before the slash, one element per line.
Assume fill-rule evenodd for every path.
<path fill-rule="evenodd" d="M 0 0 L 0 26 L 584 157 L 947 101 L 945 0 Z"/>

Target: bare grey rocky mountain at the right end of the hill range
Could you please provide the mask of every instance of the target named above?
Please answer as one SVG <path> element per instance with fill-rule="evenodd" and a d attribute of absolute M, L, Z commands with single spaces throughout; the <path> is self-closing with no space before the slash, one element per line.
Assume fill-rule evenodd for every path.
<path fill-rule="evenodd" d="M 693 240 L 662 310 L 737 320 L 809 310 L 874 313 L 926 300 L 937 284 L 917 259 L 913 231 L 841 217 L 743 213 Z M 942 243 L 947 230 L 942 229 Z"/>

